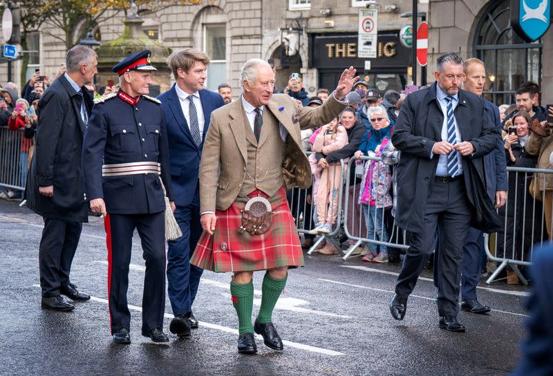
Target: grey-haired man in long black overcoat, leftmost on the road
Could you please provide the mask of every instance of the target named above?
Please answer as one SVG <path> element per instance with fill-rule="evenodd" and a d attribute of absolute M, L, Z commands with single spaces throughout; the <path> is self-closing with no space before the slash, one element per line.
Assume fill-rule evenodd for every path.
<path fill-rule="evenodd" d="M 60 296 L 78 301 L 90 297 L 69 281 L 69 272 L 88 222 L 81 152 L 92 109 L 84 87 L 97 73 L 96 53 L 77 45 L 66 55 L 67 72 L 44 93 L 38 107 L 37 146 L 27 182 L 27 205 L 44 217 L 39 247 L 42 308 L 75 308 Z"/>

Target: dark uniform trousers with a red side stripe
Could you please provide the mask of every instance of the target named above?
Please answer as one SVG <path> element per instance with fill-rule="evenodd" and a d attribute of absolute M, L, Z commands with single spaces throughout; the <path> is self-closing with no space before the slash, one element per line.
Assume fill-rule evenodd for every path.
<path fill-rule="evenodd" d="M 126 301 L 134 229 L 146 261 L 142 294 L 142 332 L 163 327 L 165 313 L 165 212 L 108 214 L 104 220 L 108 246 L 108 295 L 111 332 L 130 330 L 131 312 Z"/>

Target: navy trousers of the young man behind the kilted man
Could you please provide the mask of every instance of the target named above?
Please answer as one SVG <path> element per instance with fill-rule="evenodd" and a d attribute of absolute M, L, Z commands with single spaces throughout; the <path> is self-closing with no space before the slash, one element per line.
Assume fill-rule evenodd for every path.
<path fill-rule="evenodd" d="M 192 310 L 203 269 L 190 264 L 202 234 L 200 224 L 200 198 L 198 193 L 190 205 L 177 207 L 174 212 L 182 236 L 169 241 L 167 251 L 167 294 L 175 316 Z"/>

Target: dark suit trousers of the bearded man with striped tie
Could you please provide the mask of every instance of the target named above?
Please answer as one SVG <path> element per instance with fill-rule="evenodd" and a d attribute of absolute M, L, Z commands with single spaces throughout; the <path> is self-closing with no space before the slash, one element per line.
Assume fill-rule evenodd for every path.
<path fill-rule="evenodd" d="M 462 263 L 462 242 L 469 230 L 471 209 L 467 200 L 465 182 L 431 182 L 424 211 L 424 229 L 412 232 L 409 247 L 395 293 L 406 298 L 413 292 L 422 268 L 434 250 L 438 229 L 440 252 L 438 263 L 438 312 L 440 316 L 456 316 L 459 310 L 459 283 Z"/>

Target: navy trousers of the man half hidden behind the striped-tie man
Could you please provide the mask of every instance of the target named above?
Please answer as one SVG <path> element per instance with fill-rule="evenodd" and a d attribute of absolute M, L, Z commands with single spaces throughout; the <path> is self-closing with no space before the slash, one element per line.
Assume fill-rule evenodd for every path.
<path fill-rule="evenodd" d="M 469 227 L 462 246 L 461 299 L 476 299 L 476 286 L 482 275 L 482 258 L 484 252 L 484 233 Z M 438 259 L 440 247 L 436 247 L 434 257 Z M 438 287 L 438 263 L 434 263 L 434 285 Z"/>

